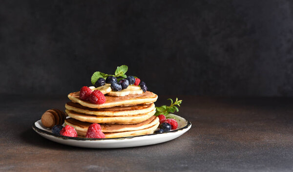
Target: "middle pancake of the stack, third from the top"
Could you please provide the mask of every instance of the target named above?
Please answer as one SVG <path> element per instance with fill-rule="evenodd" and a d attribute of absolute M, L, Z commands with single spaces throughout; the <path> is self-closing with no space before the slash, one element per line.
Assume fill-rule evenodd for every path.
<path fill-rule="evenodd" d="M 152 111 L 150 112 L 138 114 L 138 115 L 132 115 L 132 116 L 96 116 L 96 115 L 78 113 L 68 109 L 65 109 L 65 112 L 71 118 L 74 118 L 83 122 L 108 123 L 108 124 L 135 124 L 135 123 L 146 121 L 148 118 L 154 115 L 156 112 L 156 108 L 152 109 Z"/>

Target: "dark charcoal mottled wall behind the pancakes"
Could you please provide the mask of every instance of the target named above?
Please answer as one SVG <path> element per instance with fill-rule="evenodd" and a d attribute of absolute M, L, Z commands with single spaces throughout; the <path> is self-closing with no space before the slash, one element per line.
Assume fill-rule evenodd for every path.
<path fill-rule="evenodd" d="M 67 94 L 121 64 L 157 94 L 293 96 L 293 2 L 1 1 L 0 93 Z"/>

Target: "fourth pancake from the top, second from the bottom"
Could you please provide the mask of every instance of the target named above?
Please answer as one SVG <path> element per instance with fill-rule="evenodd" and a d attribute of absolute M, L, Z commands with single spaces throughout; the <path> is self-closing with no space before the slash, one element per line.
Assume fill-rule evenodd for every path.
<path fill-rule="evenodd" d="M 151 116 L 146 121 L 137 123 L 137 124 L 100 124 L 102 128 L 102 132 L 123 132 L 123 131 L 134 131 L 134 130 L 140 130 L 140 129 L 146 129 L 149 127 L 154 126 L 159 121 L 159 118 L 156 116 Z M 87 131 L 89 125 L 92 123 L 88 122 L 82 122 L 79 120 L 76 120 L 74 118 L 67 118 L 65 120 L 65 126 L 70 125 L 75 130 L 78 130 L 80 132 Z"/>

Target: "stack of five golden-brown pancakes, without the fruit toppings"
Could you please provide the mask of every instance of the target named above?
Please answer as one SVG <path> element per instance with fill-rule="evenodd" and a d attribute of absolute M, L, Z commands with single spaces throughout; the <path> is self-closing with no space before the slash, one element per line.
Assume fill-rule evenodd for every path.
<path fill-rule="evenodd" d="M 146 91 L 141 94 L 109 96 L 105 94 L 104 104 L 92 104 L 79 98 L 79 92 L 68 95 L 71 102 L 66 103 L 65 112 L 70 118 L 65 126 L 75 128 L 78 135 L 85 136 L 92 123 L 101 125 L 106 138 L 126 137 L 153 133 L 159 126 L 155 114 L 158 96 Z"/>

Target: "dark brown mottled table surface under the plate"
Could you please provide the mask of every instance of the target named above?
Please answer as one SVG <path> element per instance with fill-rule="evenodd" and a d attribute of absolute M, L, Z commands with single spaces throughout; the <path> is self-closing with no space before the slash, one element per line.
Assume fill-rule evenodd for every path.
<path fill-rule="evenodd" d="M 169 104 L 159 96 L 156 105 Z M 157 145 L 86 149 L 58 144 L 31 125 L 64 96 L 1 95 L 0 171 L 293 171 L 293 98 L 179 96 L 176 114 L 192 123 Z"/>

